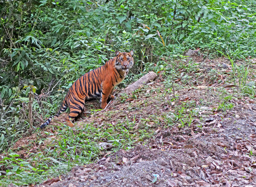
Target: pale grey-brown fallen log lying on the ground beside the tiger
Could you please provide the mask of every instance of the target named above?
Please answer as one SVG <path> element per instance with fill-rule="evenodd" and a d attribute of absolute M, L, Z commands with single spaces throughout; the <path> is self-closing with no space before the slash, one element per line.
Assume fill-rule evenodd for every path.
<path fill-rule="evenodd" d="M 150 81 L 153 81 L 156 76 L 157 75 L 155 72 L 149 72 L 149 73 L 145 74 L 144 76 L 142 76 L 138 81 L 130 84 L 124 90 L 121 90 L 120 93 L 131 93 L 132 91 L 138 89 L 141 85 L 147 84 Z"/>

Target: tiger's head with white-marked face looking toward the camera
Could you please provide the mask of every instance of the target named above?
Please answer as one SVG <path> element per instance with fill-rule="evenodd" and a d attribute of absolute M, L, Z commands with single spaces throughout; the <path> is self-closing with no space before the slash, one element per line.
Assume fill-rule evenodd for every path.
<path fill-rule="evenodd" d="M 130 52 L 119 52 L 116 51 L 116 62 L 115 68 L 117 70 L 123 70 L 124 72 L 128 72 L 129 69 L 133 65 L 133 51 Z"/>

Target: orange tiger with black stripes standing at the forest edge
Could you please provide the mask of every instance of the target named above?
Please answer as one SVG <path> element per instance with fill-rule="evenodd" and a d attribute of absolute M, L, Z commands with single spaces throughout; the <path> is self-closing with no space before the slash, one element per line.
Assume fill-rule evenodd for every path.
<path fill-rule="evenodd" d="M 124 80 L 133 65 L 133 51 L 116 51 L 115 54 L 116 57 L 108 60 L 105 65 L 84 74 L 69 88 L 58 113 L 55 115 L 59 116 L 69 107 L 70 112 L 66 118 L 69 127 L 74 126 L 72 121 L 84 110 L 84 102 L 100 97 L 101 109 L 104 109 L 107 102 L 114 99 L 112 95 L 114 87 Z M 48 118 L 40 128 L 46 127 L 53 117 Z"/>

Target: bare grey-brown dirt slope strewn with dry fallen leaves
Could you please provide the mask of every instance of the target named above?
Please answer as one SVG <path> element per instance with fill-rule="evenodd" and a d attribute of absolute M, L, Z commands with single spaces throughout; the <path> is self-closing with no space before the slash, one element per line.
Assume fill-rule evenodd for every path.
<path fill-rule="evenodd" d="M 228 62 L 225 63 L 228 65 Z M 177 105 L 194 101 L 196 104 L 189 106 L 187 111 L 193 108 L 197 117 L 192 118 L 190 123 L 183 126 L 177 122 L 168 126 L 168 121 L 163 119 L 162 126 L 144 124 L 155 128 L 154 137 L 146 144 L 140 141 L 135 148 L 116 153 L 109 152 L 109 145 L 110 148 L 106 148 L 105 155 L 97 163 L 75 167 L 68 175 L 37 186 L 256 186 L 255 98 L 240 97 L 239 92 L 235 92 L 236 87 L 225 81 L 211 83 L 209 68 L 227 71 L 223 59 L 205 61 L 200 68 L 203 77 L 197 74 L 193 79 L 194 86 L 176 90 L 179 99 L 174 102 L 153 99 L 159 93 L 152 93 L 148 100 L 141 96 L 140 100 L 131 101 L 136 105 L 143 99 L 147 100 L 149 104 L 144 109 L 144 115 L 154 113 L 161 116 L 166 113 L 169 118 L 175 117 L 172 115 Z M 153 87 L 163 88 L 164 91 L 163 82 L 162 76 L 159 76 Z M 221 96 L 226 98 L 227 93 L 233 96 L 228 99 L 230 108 L 221 105 L 224 103 Z M 116 103 L 116 108 L 123 110 L 126 104 Z M 138 111 L 134 113 L 143 115 Z M 89 120 L 97 121 L 101 115 Z M 109 123 L 114 121 L 106 120 Z M 137 122 L 140 123 L 140 119 Z"/>

